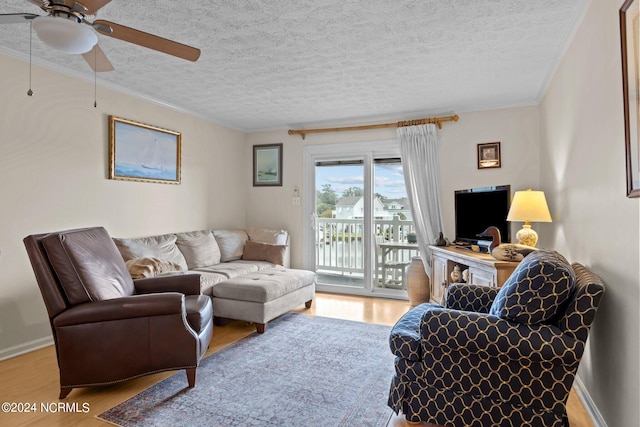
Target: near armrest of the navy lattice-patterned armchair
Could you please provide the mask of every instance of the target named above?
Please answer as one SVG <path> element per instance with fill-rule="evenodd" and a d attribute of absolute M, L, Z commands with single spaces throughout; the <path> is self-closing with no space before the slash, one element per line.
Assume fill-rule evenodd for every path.
<path fill-rule="evenodd" d="M 515 361 L 579 362 L 584 343 L 553 325 L 527 325 L 482 313 L 432 308 L 420 324 L 423 354 L 433 348 Z"/>

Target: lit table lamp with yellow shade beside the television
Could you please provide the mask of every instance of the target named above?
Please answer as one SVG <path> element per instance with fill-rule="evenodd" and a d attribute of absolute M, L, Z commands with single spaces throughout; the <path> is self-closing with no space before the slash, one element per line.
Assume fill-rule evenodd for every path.
<path fill-rule="evenodd" d="M 516 191 L 507 214 L 507 221 L 524 221 L 522 228 L 516 233 L 521 245 L 535 247 L 538 233 L 531 228 L 531 222 L 551 222 L 551 213 L 543 191 Z"/>

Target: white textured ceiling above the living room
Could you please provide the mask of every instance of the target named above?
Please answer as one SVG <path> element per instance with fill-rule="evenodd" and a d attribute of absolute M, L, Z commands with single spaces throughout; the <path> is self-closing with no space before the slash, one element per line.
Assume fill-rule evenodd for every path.
<path fill-rule="evenodd" d="M 116 68 L 100 83 L 255 131 L 535 104 L 588 1 L 112 0 L 89 19 L 202 50 L 192 63 L 99 36 Z M 0 4 L 17 12 L 42 14 Z M 93 81 L 81 56 L 33 43 L 36 63 Z M 0 53 L 26 59 L 29 25 L 0 25 Z"/>

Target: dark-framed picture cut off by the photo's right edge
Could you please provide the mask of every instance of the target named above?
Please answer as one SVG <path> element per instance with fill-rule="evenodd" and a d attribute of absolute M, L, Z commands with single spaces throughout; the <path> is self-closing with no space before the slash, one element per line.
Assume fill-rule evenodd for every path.
<path fill-rule="evenodd" d="M 640 0 L 626 0 L 620 8 L 622 95 L 627 169 L 627 197 L 640 197 Z"/>

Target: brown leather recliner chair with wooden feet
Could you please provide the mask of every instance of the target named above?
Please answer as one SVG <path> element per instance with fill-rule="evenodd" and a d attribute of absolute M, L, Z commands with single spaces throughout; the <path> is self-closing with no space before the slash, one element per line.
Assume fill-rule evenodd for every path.
<path fill-rule="evenodd" d="M 60 368 L 75 387 L 186 369 L 189 387 L 213 333 L 211 300 L 194 274 L 132 280 L 102 227 L 27 236 Z"/>

